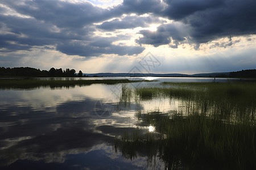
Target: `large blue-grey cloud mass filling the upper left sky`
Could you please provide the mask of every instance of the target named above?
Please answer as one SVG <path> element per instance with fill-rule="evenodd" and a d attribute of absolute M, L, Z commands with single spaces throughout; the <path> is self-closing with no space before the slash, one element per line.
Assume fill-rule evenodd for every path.
<path fill-rule="evenodd" d="M 63 1 L 3 1 L 0 10 L 0 52 L 30 50 L 35 46 L 54 45 L 65 54 L 101 56 L 102 54 L 133 55 L 139 46 L 112 45 L 114 40 L 97 37 L 93 23 L 118 14 L 90 3 Z M 5 15 L 7 8 L 20 15 Z M 24 17 L 26 16 L 26 17 Z M 100 40 L 98 40 L 100 39 Z"/>

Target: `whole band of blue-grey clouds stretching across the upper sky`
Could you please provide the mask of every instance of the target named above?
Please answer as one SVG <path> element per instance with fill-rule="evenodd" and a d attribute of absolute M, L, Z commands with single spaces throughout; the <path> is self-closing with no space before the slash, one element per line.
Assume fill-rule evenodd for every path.
<path fill-rule="evenodd" d="M 93 6 L 89 2 L 57 0 L 3 0 L 1 3 L 19 14 L 30 16 L 3 15 L 7 8 L 0 8 L 2 52 L 55 45 L 61 52 L 80 56 L 138 54 L 143 51 L 140 46 L 112 45 L 107 39 L 97 41 L 93 39 L 93 32 L 97 28 L 113 31 L 147 27 L 152 22 L 158 22 L 156 18 L 159 16 L 174 22 L 160 25 L 155 32 L 140 31 L 143 37 L 136 42 L 154 46 L 168 44 L 171 48 L 177 48 L 184 43 L 199 46 L 221 37 L 256 33 L 256 1 L 253 0 L 124 0 L 121 5 L 109 9 Z M 121 18 L 122 14 L 131 13 L 150 14 L 150 17 Z M 104 22 L 111 18 L 121 19 Z M 94 25 L 100 22 L 103 23 L 97 27 Z M 3 33 L 5 29 L 9 32 Z M 123 40 L 123 37 L 118 37 Z"/>

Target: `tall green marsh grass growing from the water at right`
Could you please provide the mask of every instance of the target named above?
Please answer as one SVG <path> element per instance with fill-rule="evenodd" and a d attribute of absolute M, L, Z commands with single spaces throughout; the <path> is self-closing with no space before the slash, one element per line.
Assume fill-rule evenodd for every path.
<path fill-rule="evenodd" d="M 124 135 L 119 147 L 125 157 L 144 151 L 168 169 L 256 169 L 256 83 L 162 83 L 136 88 L 134 94 L 138 103 L 167 98 L 183 107 L 139 111 L 138 120 L 155 131 Z"/>

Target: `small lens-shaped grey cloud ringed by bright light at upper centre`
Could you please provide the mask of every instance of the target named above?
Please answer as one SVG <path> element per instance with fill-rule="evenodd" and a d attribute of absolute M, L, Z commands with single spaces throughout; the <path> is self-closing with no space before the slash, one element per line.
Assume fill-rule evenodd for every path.
<path fill-rule="evenodd" d="M 151 23 L 160 23 L 160 19 L 151 16 L 126 16 L 122 19 L 113 19 L 98 25 L 97 28 L 113 31 L 115 29 L 127 29 L 136 27 L 148 27 Z"/>

